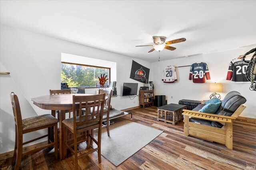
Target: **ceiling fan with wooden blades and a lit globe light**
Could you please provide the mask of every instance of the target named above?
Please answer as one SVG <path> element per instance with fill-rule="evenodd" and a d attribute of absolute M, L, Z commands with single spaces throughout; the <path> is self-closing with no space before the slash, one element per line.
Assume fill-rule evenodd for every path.
<path fill-rule="evenodd" d="M 150 51 L 148 51 L 148 53 L 156 50 L 156 51 L 162 51 L 163 49 L 168 49 L 168 50 L 175 50 L 175 47 L 171 47 L 169 46 L 170 44 L 175 44 L 175 43 L 180 43 L 183 41 L 186 41 L 186 38 L 180 38 L 180 39 L 174 39 L 171 41 L 167 41 L 165 42 L 166 37 L 164 36 L 152 36 L 153 40 L 154 40 L 154 44 L 155 45 L 137 45 L 135 47 L 146 47 L 146 46 L 153 46 L 154 48 L 152 48 Z"/>

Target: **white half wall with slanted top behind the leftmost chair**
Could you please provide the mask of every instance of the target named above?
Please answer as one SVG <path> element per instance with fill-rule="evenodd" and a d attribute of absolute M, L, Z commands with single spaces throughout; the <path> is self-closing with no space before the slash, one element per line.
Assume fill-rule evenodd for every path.
<path fill-rule="evenodd" d="M 0 72 L 8 72 L 0 62 Z M 10 101 L 10 93 L 15 92 L 18 96 L 22 110 L 22 119 L 36 116 L 36 112 L 24 97 L 17 84 L 10 74 L 0 74 L 0 153 L 8 152 L 14 149 L 15 129 L 14 116 Z M 24 135 L 24 142 L 32 137 L 36 138 L 44 135 L 46 130 L 32 132 Z M 41 139 L 40 141 L 44 141 Z M 33 143 L 32 143 L 33 144 Z"/>

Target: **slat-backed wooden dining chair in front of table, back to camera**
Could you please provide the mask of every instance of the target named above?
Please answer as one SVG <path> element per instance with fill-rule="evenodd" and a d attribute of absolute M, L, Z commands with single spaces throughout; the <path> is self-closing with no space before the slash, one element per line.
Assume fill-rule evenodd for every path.
<path fill-rule="evenodd" d="M 64 150 L 63 158 L 66 158 L 67 149 L 75 157 L 75 168 L 78 169 L 78 159 L 98 150 L 98 162 L 101 163 L 101 130 L 102 116 L 106 94 L 96 94 L 91 96 L 73 96 L 73 117 L 62 121 L 64 126 Z M 86 109 L 83 114 L 82 108 Z M 92 108 L 92 109 L 91 109 Z M 92 111 L 91 111 L 92 110 Z M 78 113 L 76 113 L 78 112 Z M 76 116 L 78 115 L 78 116 Z M 98 128 L 98 141 L 92 135 L 92 129 Z M 73 134 L 73 140 L 68 140 L 68 130 Z M 78 137 L 80 133 L 86 132 L 83 137 Z M 90 141 L 94 141 L 97 148 L 78 156 L 77 145 L 86 141 L 87 149 L 91 146 Z M 74 147 L 74 149 L 72 148 Z"/>

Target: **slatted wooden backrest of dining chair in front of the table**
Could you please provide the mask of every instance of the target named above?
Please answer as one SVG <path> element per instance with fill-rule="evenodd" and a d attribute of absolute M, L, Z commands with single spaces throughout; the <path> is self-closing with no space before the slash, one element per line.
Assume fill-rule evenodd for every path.
<path fill-rule="evenodd" d="M 73 119 L 74 129 L 76 129 L 76 126 L 94 123 L 102 119 L 105 97 L 106 94 L 96 94 L 92 96 L 73 95 L 73 117 L 79 117 L 79 120 Z M 96 107 L 97 111 L 95 111 Z M 82 115 L 82 108 L 86 110 L 85 115 Z"/>

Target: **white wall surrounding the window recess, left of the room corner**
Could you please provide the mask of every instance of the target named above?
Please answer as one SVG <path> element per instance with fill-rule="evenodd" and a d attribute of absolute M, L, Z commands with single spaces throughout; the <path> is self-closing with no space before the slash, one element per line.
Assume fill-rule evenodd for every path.
<path fill-rule="evenodd" d="M 3 89 L 4 91 L 4 89 L 7 89 L 7 92 L 2 93 L 1 91 L 0 114 L 8 113 L 9 115 L 9 118 L 3 117 L 1 122 L 8 121 L 7 123 L 10 124 L 10 126 L 6 128 L 8 128 L 9 131 L 14 131 L 12 109 L 9 107 L 9 94 L 12 91 L 17 93 L 19 98 L 26 98 L 30 106 L 32 106 L 38 115 L 50 113 L 50 111 L 40 109 L 32 104 L 30 99 L 36 96 L 48 95 L 49 89 L 60 89 L 61 53 L 116 62 L 117 90 L 120 95 L 122 95 L 121 89 L 124 82 L 137 82 L 130 79 L 132 60 L 148 68 L 150 68 L 151 65 L 150 62 L 133 59 L 124 55 L 71 43 L 69 41 L 6 25 L 0 25 L 0 37 L 0 62 L 6 68 L 7 72 L 11 72 L 9 78 L 12 78 L 12 82 L 5 81 L 5 86 L 9 88 L 2 88 L 1 86 L 1 90 Z M 12 86 L 14 82 L 17 86 L 16 88 Z M 142 85 L 142 83 L 139 83 L 138 86 Z M 20 89 L 20 92 L 18 92 L 18 89 Z M 5 108 L 5 104 L 9 105 L 9 108 Z M 138 106 L 139 100 L 138 97 L 134 100 L 130 100 L 130 98 L 118 96 L 112 98 L 111 104 L 116 109 L 126 109 Z M 26 111 L 26 109 L 23 110 L 23 107 L 21 107 L 21 109 L 22 113 Z M 35 113 L 34 111 L 30 109 L 26 116 L 33 116 Z M 1 124 L 0 127 L 3 127 L 3 124 Z M 1 138 L 5 138 L 7 137 L 6 134 L 8 131 L 4 131 L 4 128 L 1 128 L 0 133 Z M 13 134 L 10 134 L 7 138 L 7 141 L 14 141 Z M 3 141 L 3 143 L 1 141 L 0 145 L 0 153 L 13 150 L 14 148 L 13 143 L 10 143 L 9 146 L 6 141 Z"/>

